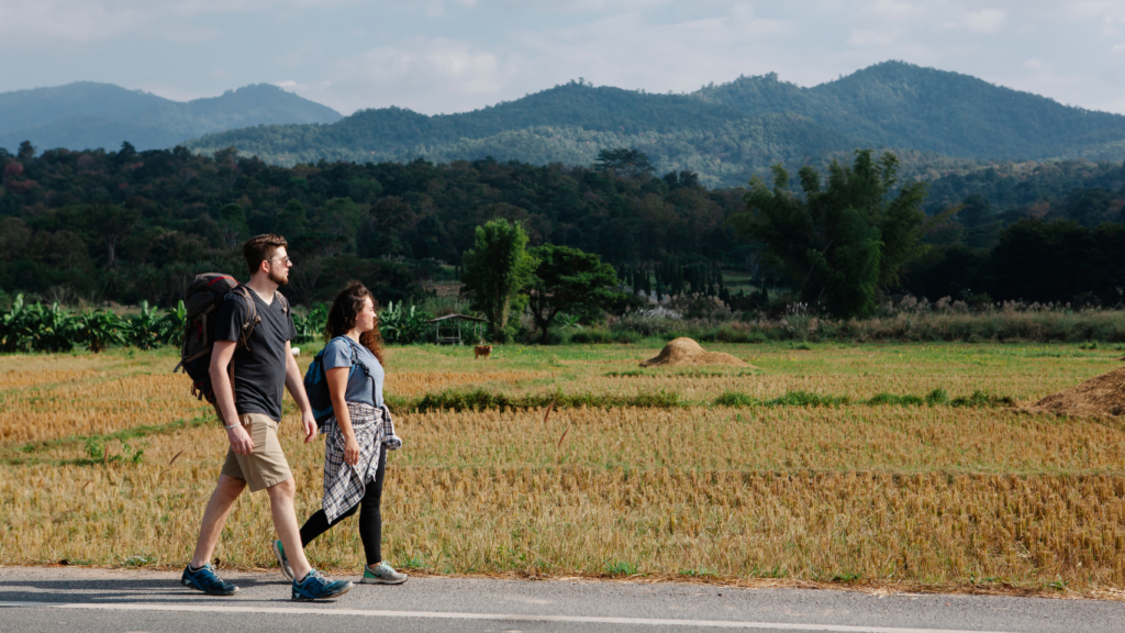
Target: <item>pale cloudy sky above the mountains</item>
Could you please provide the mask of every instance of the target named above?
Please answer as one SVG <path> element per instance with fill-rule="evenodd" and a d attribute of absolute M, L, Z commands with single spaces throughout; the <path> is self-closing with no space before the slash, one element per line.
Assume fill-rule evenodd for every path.
<path fill-rule="evenodd" d="M 1125 0 L 0 0 L 0 91 L 268 82 L 343 114 L 464 112 L 579 77 L 814 86 L 884 60 L 1125 113 Z"/>

